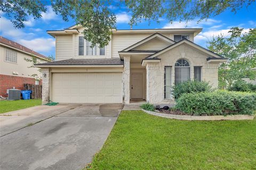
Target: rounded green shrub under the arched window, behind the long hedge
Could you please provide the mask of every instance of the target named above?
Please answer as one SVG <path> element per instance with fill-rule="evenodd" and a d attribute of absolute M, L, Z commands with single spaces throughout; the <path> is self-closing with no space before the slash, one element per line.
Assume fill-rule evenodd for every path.
<path fill-rule="evenodd" d="M 185 81 L 173 87 L 172 95 L 178 99 L 181 95 L 191 92 L 211 91 L 211 86 L 205 81 Z"/>

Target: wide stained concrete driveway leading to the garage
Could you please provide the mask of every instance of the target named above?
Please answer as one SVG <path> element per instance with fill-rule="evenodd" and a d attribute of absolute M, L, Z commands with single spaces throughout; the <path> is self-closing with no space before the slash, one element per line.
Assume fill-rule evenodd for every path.
<path fill-rule="evenodd" d="M 36 106 L 0 116 L 0 169 L 82 169 L 123 105 Z"/>

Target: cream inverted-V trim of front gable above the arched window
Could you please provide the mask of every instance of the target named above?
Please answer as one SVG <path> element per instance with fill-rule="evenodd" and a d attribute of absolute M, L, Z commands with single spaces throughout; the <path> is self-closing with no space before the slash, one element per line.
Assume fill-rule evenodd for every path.
<path fill-rule="evenodd" d="M 151 55 L 149 58 L 154 58 L 154 57 L 156 57 L 156 56 L 158 56 L 160 54 L 163 54 L 163 53 L 167 52 L 168 50 L 170 50 L 170 49 L 172 49 L 174 47 L 182 45 L 183 43 L 186 43 L 186 44 L 188 44 L 188 45 L 190 45 L 190 46 L 192 46 L 192 47 L 194 47 L 194 48 L 196 48 L 198 50 L 201 50 L 202 52 L 204 52 L 206 54 L 209 54 L 209 55 L 211 55 L 213 57 L 221 58 L 219 55 L 217 55 L 217 54 L 215 54 L 213 52 L 210 52 L 209 50 L 206 50 L 203 47 L 199 47 L 198 45 L 195 45 L 194 43 L 191 43 L 189 40 L 186 40 L 186 39 L 183 39 L 183 40 L 179 41 L 177 44 L 171 45 L 170 47 L 167 47 L 164 50 L 161 50 L 161 51 Z"/>

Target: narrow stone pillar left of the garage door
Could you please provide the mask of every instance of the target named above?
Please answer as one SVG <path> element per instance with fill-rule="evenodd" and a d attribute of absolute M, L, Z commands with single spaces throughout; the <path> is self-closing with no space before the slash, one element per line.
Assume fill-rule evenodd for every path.
<path fill-rule="evenodd" d="M 49 68 L 42 69 L 42 104 L 49 102 L 50 92 L 50 70 Z"/>

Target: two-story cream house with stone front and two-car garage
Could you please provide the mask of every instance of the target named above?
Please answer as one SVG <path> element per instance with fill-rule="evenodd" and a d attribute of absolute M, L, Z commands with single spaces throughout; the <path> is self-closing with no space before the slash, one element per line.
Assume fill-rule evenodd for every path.
<path fill-rule="evenodd" d="M 47 31 L 56 41 L 56 61 L 43 69 L 43 102 L 173 103 L 172 86 L 208 81 L 218 86 L 226 58 L 193 43 L 202 29 L 113 30 L 109 45 L 91 48 L 83 28 Z"/>

